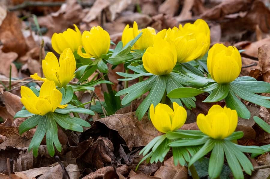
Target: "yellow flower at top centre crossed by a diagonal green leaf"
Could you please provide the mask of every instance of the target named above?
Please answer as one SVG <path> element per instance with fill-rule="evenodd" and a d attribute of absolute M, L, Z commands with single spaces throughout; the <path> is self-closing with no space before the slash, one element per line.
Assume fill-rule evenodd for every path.
<path fill-rule="evenodd" d="M 132 49 L 146 50 L 148 47 L 153 46 L 156 31 L 152 27 L 147 27 L 142 30 L 138 30 L 138 25 L 136 21 L 133 23 L 133 27 L 126 25 L 122 34 L 123 46 L 125 46 L 129 41 L 133 40 L 139 33 L 143 32 L 142 36 L 137 40 Z"/>

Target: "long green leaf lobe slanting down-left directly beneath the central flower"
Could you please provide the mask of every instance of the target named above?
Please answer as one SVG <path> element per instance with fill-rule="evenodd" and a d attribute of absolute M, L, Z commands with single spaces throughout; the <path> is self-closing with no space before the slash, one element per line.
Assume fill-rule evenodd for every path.
<path fill-rule="evenodd" d="M 163 94 L 166 89 L 167 84 L 167 77 L 166 76 L 158 76 L 155 83 L 153 84 L 149 94 L 143 100 L 143 102 L 139 105 L 136 110 L 136 115 L 139 120 L 141 120 L 149 109 L 150 105 L 153 104 L 154 106 L 158 105 L 161 101 Z"/>

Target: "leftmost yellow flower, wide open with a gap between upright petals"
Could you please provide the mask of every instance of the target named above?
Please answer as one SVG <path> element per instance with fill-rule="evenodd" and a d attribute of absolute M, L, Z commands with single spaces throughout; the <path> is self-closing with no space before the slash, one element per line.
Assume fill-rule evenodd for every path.
<path fill-rule="evenodd" d="M 54 112 L 59 108 L 65 108 L 67 105 L 60 105 L 62 101 L 62 93 L 55 88 L 53 81 L 45 81 L 39 92 L 39 97 L 35 93 L 25 86 L 21 87 L 21 102 L 25 108 L 38 115 L 45 115 L 48 112 Z"/>

